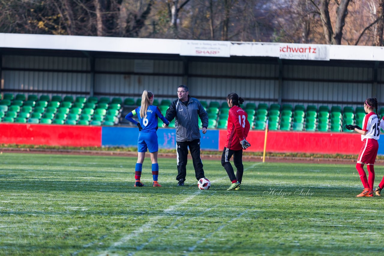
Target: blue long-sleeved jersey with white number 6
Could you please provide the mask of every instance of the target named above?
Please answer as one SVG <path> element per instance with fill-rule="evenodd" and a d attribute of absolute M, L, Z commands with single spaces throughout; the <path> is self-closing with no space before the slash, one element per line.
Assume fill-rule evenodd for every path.
<path fill-rule="evenodd" d="M 136 109 L 134 109 L 131 113 L 127 114 L 126 119 L 137 124 L 137 122 L 132 119 L 134 115 L 137 115 L 137 118 L 139 119 L 140 125 L 142 127 L 141 133 L 156 133 L 158 128 L 157 117 L 160 117 L 160 119 L 165 124 L 169 124 L 169 121 L 161 114 L 159 107 L 149 105 L 147 108 L 146 116 L 143 118 L 140 117 L 140 109 L 141 106 L 136 107 Z"/>

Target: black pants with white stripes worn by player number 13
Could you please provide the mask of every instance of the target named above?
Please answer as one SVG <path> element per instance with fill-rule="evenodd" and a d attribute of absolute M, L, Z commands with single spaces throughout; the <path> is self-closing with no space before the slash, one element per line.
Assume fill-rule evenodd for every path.
<path fill-rule="evenodd" d="M 235 164 L 235 167 L 237 169 L 236 176 L 235 172 L 233 171 L 233 167 L 229 160 L 231 159 L 233 155 L 233 164 Z M 244 166 L 243 166 L 243 150 L 232 150 L 224 147 L 223 155 L 221 156 L 221 165 L 224 167 L 225 171 L 227 171 L 229 179 L 237 180 L 241 183 L 243 179 L 243 172 L 244 172 Z"/>

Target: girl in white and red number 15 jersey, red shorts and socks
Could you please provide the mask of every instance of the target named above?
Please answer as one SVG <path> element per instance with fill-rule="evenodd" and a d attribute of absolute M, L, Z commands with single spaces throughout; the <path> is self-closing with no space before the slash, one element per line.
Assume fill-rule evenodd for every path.
<path fill-rule="evenodd" d="M 372 190 L 375 179 L 373 165 L 375 164 L 377 150 L 379 149 L 379 143 L 377 140 L 380 137 L 380 119 L 377 114 L 377 99 L 368 98 L 364 102 L 364 110 L 367 114 L 364 116 L 362 121 L 362 129 L 359 126 L 353 125 L 348 125 L 346 128 L 349 130 L 355 130 L 361 134 L 361 140 L 363 142 L 356 164 L 356 170 L 360 175 L 364 190 L 357 195 L 357 197 L 373 197 Z M 364 164 L 367 164 L 368 179 L 363 168 Z"/>

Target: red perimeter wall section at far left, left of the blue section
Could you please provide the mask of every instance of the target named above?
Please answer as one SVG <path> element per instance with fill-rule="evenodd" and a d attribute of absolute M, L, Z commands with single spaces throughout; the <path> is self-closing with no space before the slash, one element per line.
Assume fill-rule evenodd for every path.
<path fill-rule="evenodd" d="M 101 127 L 0 124 L 0 144 L 101 147 Z"/>

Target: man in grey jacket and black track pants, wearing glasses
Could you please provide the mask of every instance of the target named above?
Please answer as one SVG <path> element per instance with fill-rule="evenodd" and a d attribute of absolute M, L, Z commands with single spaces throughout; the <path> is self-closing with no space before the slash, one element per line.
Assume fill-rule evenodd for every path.
<path fill-rule="evenodd" d="M 203 163 L 200 159 L 200 129 L 199 115 L 203 124 L 202 132 L 205 134 L 208 127 L 208 114 L 200 101 L 190 97 L 188 87 L 180 85 L 177 88 L 179 99 L 172 102 L 167 109 L 166 119 L 172 121 L 175 118 L 176 147 L 177 147 L 177 176 L 178 186 L 184 186 L 187 175 L 188 147 L 191 152 L 195 176 L 197 180 L 204 178 Z M 164 127 L 167 127 L 165 124 Z"/>

